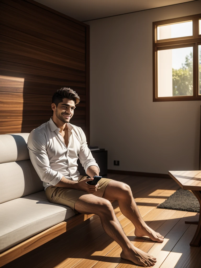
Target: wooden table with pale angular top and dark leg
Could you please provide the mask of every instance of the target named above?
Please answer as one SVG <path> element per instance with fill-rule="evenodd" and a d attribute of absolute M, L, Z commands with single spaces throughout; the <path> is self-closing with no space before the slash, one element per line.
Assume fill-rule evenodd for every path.
<path fill-rule="evenodd" d="M 168 174 L 181 186 L 182 189 L 191 191 L 200 203 L 201 212 L 201 171 L 169 171 Z M 192 247 L 200 247 L 201 245 L 201 213 L 199 221 L 185 221 L 187 224 L 198 224 L 195 235 L 190 243 Z"/>

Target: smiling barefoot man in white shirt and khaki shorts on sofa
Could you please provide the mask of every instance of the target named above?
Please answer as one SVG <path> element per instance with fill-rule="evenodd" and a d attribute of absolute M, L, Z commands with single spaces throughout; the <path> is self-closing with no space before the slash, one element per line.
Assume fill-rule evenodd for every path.
<path fill-rule="evenodd" d="M 149 236 L 153 241 L 163 242 L 164 237 L 143 221 L 129 185 L 108 178 L 101 178 L 96 185 L 86 183 L 95 175 L 99 176 L 100 169 L 87 146 L 83 130 L 69 123 L 79 101 L 72 89 L 57 90 L 51 104 L 53 116 L 33 129 L 28 137 L 30 159 L 43 181 L 47 199 L 70 207 L 76 214 L 99 215 L 107 235 L 121 246 L 121 258 L 144 267 L 153 266 L 156 258 L 129 241 L 109 201 L 118 200 L 122 214 L 134 224 L 136 236 Z M 90 178 L 78 172 L 78 157 Z"/>

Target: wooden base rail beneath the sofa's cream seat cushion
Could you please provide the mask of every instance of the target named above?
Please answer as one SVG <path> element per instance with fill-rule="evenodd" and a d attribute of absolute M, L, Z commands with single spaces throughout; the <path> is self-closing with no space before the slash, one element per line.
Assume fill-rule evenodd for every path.
<path fill-rule="evenodd" d="M 76 214 L 0 254 L 0 267 L 65 233 L 95 214 Z"/>

